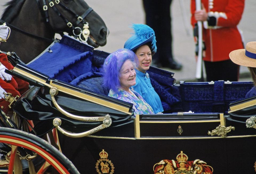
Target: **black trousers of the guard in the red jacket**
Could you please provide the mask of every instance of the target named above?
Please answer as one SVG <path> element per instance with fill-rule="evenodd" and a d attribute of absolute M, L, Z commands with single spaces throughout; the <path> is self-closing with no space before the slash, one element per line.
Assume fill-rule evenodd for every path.
<path fill-rule="evenodd" d="M 229 80 L 230 82 L 238 81 L 239 65 L 233 63 L 230 59 L 219 62 L 204 61 L 204 64 L 207 82 L 218 80 Z"/>

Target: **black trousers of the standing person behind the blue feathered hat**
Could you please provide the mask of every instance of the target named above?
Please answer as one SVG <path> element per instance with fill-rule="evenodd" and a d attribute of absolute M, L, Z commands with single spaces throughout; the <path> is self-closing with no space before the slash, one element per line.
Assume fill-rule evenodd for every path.
<path fill-rule="evenodd" d="M 165 64 L 172 62 L 171 33 L 171 2 L 172 0 L 143 0 L 146 24 L 155 31 L 157 52 L 153 62 Z"/>

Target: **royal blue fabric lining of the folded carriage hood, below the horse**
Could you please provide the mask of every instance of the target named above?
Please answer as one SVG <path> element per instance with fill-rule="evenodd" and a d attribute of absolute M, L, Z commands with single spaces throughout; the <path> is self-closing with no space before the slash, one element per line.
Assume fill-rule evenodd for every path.
<path fill-rule="evenodd" d="M 51 50 L 52 52 L 45 52 L 28 66 L 66 83 L 81 74 L 97 71 L 97 67 L 91 63 L 92 52 L 82 52 L 60 43 L 55 43 Z"/>

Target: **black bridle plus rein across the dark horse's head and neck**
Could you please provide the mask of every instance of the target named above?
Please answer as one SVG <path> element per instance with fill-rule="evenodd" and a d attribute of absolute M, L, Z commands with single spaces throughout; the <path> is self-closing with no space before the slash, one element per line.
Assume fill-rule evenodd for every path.
<path fill-rule="evenodd" d="M 48 6 L 46 4 L 46 0 L 42 0 L 43 1 L 43 5 L 41 4 L 41 1 L 40 0 L 36 0 L 37 1 L 37 4 L 39 6 L 39 9 L 40 11 L 44 14 L 45 16 L 45 19 L 46 19 L 46 24 L 47 26 L 50 26 L 49 24 L 49 15 L 48 15 Z M 77 21 L 75 23 L 75 26 L 78 26 L 81 22 L 84 24 L 84 31 L 80 28 L 80 27 L 74 27 L 73 24 L 71 22 L 69 22 L 60 12 L 59 10 L 54 6 L 54 2 L 51 1 L 51 0 L 48 0 L 49 2 L 49 6 L 51 8 L 53 8 L 53 10 L 57 13 L 58 16 L 60 16 L 64 22 L 67 24 L 68 27 L 72 28 L 73 29 L 73 34 L 74 34 L 74 37 L 75 38 L 78 38 L 82 41 L 82 42 L 86 42 L 87 41 L 87 38 L 89 37 L 89 24 L 87 22 L 85 22 L 85 17 L 91 12 L 93 11 L 93 9 L 91 7 L 89 7 L 81 16 L 77 15 L 75 12 L 73 12 L 72 10 L 70 10 L 67 6 L 65 6 L 64 4 L 62 4 L 59 0 L 55 0 L 55 3 L 60 5 L 61 7 L 63 7 L 65 10 L 69 11 L 71 14 L 73 14 L 76 18 L 77 18 Z M 41 10 L 42 9 L 42 10 Z M 0 22 L 1 23 L 6 23 L 4 20 L 0 19 Z M 34 35 L 34 34 L 31 34 L 31 33 L 28 33 L 22 29 L 19 29 L 9 23 L 6 23 L 7 26 L 9 26 L 11 29 L 14 29 L 16 31 L 19 31 L 25 35 L 28 35 L 28 36 L 31 36 L 31 37 L 35 37 L 35 38 L 38 38 L 38 39 L 41 39 L 41 40 L 44 40 L 44 41 L 47 41 L 47 42 L 50 42 L 52 43 L 54 41 L 54 38 L 53 39 L 48 39 L 48 38 L 45 38 L 45 37 L 41 37 L 41 36 L 37 36 L 37 35 Z M 85 28 L 86 28 L 86 31 L 85 31 Z M 79 34 L 75 34 L 75 30 L 76 29 L 79 29 L 80 30 L 80 33 Z M 87 32 L 87 33 L 86 33 Z M 81 37 L 81 35 L 83 35 L 83 37 L 85 39 L 83 39 Z"/>

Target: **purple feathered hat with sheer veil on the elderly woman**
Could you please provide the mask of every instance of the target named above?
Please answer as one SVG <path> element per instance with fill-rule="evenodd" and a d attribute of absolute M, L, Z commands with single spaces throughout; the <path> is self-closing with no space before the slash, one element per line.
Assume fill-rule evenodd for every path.
<path fill-rule="evenodd" d="M 103 85 L 113 91 L 117 91 L 120 87 L 119 71 L 126 60 L 130 60 L 134 68 L 137 68 L 139 61 L 136 54 L 129 49 L 118 49 L 117 51 L 109 54 L 103 63 Z"/>

